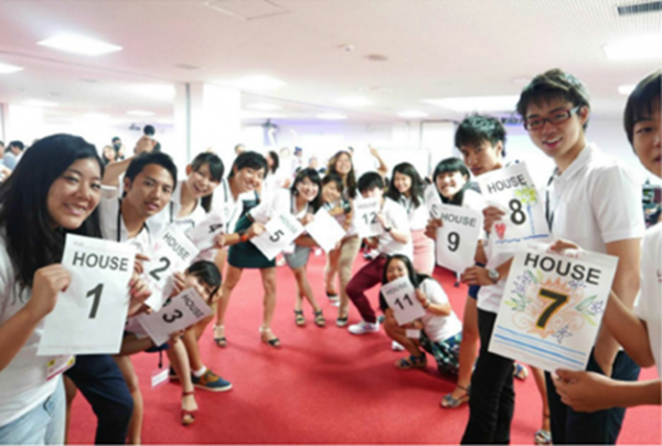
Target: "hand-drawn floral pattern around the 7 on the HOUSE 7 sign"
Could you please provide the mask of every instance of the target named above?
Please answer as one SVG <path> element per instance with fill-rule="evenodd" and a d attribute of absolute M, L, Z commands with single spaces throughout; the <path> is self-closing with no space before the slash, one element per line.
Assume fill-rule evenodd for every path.
<path fill-rule="evenodd" d="M 596 295 L 585 296 L 581 280 L 545 279 L 540 269 L 525 269 L 514 285 L 505 301 L 514 325 L 542 339 L 552 337 L 563 343 L 585 323 L 597 326 L 596 317 L 605 311 Z"/>

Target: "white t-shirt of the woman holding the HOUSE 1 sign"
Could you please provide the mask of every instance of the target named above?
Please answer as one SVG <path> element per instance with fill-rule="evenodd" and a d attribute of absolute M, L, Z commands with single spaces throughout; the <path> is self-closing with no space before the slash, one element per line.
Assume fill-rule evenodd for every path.
<path fill-rule="evenodd" d="M 7 241 L 0 235 L 0 326 L 23 309 L 32 295 L 29 287 L 20 293 L 15 278 Z M 36 355 L 43 331 L 42 319 L 17 355 L 0 371 L 0 426 L 25 415 L 55 392 L 61 378 L 46 381 L 46 364 L 54 357 Z"/>

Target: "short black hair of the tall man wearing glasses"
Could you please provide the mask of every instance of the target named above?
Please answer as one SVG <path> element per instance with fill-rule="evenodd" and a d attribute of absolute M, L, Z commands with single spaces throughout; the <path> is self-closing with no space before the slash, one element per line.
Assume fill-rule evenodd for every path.
<path fill-rule="evenodd" d="M 564 100 L 575 107 L 590 108 L 590 97 L 586 85 L 577 77 L 559 68 L 538 74 L 524 87 L 517 102 L 517 113 L 526 119 L 526 110 L 531 103 L 542 105 L 551 100 Z M 588 119 L 584 129 L 588 127 Z"/>

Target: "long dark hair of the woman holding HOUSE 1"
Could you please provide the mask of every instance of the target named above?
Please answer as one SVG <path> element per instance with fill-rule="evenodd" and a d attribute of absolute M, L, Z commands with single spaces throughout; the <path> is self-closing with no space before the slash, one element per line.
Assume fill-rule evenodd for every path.
<path fill-rule="evenodd" d="M 53 135 L 40 139 L 25 150 L 21 162 L 0 187 L 0 229 L 6 231 L 7 251 L 17 268 L 17 279 L 32 286 L 34 273 L 62 262 L 67 233 L 102 237 L 98 210 L 75 230 L 53 229 L 47 208 L 51 185 L 79 159 L 104 163 L 96 148 L 72 135 Z"/>

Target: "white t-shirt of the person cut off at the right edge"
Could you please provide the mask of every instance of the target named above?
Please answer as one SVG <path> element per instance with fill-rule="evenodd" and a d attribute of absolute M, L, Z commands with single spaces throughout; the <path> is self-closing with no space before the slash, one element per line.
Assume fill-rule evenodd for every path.
<path fill-rule="evenodd" d="M 662 223 L 649 229 L 641 253 L 641 295 L 634 314 L 645 321 L 649 342 L 662 379 Z"/>

